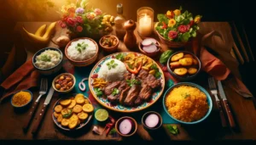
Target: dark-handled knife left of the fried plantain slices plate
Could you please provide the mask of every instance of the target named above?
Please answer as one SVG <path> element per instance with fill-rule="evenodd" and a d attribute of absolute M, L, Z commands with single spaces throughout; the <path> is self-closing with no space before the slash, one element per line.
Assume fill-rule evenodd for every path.
<path fill-rule="evenodd" d="M 48 95 L 45 98 L 43 109 L 41 109 L 41 111 L 38 115 L 38 119 L 36 120 L 35 125 L 32 128 L 32 134 L 37 134 L 38 129 L 39 129 L 39 125 L 40 125 L 40 123 L 42 122 L 42 120 L 44 118 L 44 114 L 46 112 L 47 106 L 48 106 L 48 104 L 50 102 L 50 99 L 52 98 L 54 92 L 55 92 L 55 90 L 51 86 L 50 89 L 49 89 Z"/>

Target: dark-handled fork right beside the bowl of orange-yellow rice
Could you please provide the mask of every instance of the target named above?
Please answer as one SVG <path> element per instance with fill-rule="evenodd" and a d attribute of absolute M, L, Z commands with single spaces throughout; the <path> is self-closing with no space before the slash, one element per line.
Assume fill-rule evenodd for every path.
<path fill-rule="evenodd" d="M 227 121 L 225 120 L 223 108 L 221 107 L 220 101 L 218 99 L 217 87 L 216 87 L 213 77 L 208 78 L 208 84 L 209 84 L 210 91 L 211 91 L 212 95 L 214 95 L 214 97 L 215 97 L 215 102 L 217 103 L 217 107 L 218 107 L 219 115 L 220 115 L 220 119 L 221 119 L 221 125 L 226 127 Z"/>

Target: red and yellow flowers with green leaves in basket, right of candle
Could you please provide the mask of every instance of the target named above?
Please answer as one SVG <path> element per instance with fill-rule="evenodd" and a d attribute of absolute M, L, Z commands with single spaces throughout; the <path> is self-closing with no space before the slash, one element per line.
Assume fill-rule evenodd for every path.
<path fill-rule="evenodd" d="M 201 15 L 193 15 L 188 11 L 181 12 L 182 8 L 174 11 L 168 10 L 166 14 L 158 14 L 155 30 L 160 36 L 160 41 L 168 47 L 183 47 L 190 37 L 196 36 L 199 30 L 198 23 L 201 21 Z"/>

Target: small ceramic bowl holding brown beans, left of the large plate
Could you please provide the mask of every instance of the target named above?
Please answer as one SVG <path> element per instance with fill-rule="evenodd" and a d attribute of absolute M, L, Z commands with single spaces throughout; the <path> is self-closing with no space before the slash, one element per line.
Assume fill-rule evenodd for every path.
<path fill-rule="evenodd" d="M 64 91 L 61 91 L 60 89 L 57 89 L 55 84 L 56 84 L 56 81 L 59 80 L 59 78 L 61 77 L 61 75 L 67 75 L 67 76 L 70 76 L 72 78 L 72 83 L 73 85 L 72 86 L 68 86 L 69 88 L 67 90 L 64 90 Z M 76 78 L 74 77 L 74 75 L 70 74 L 70 73 L 62 73 L 60 75 L 57 75 L 55 77 L 55 79 L 52 81 L 52 87 L 55 89 L 56 92 L 61 92 L 61 93 L 67 93 L 67 92 L 71 92 L 73 90 L 73 87 L 75 86 L 76 84 Z M 66 85 L 67 86 L 67 85 Z"/>

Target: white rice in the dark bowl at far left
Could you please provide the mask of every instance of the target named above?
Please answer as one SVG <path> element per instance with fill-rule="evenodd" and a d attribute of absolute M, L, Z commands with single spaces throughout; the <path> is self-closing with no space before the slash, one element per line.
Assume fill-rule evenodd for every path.
<path fill-rule="evenodd" d="M 45 57 L 47 60 L 45 60 Z M 43 59 L 44 58 L 44 59 Z M 61 61 L 61 53 L 55 50 L 45 50 L 36 57 L 35 65 L 40 69 L 49 69 Z"/>

